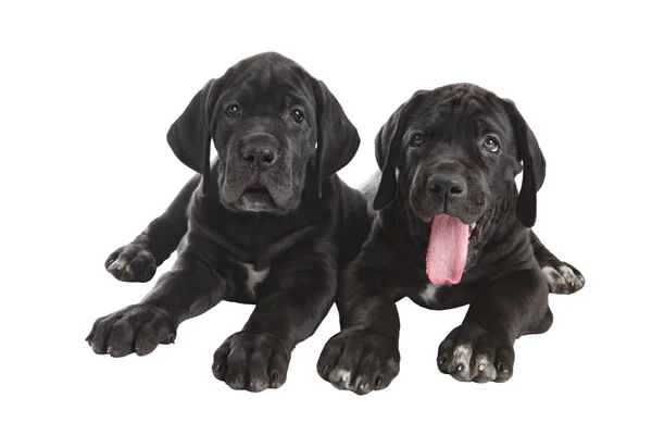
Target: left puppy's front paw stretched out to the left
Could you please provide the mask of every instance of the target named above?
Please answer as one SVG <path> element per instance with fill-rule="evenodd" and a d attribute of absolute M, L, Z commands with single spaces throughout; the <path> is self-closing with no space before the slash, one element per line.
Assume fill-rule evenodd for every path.
<path fill-rule="evenodd" d="M 86 341 L 99 355 L 124 357 L 151 353 L 160 344 L 174 343 L 176 331 L 163 309 L 143 303 L 98 319 Z"/>

